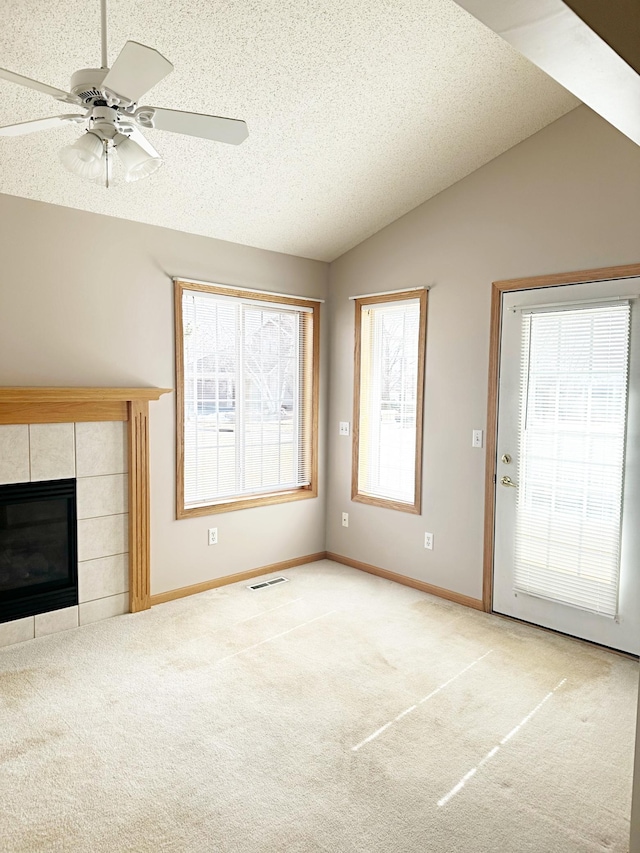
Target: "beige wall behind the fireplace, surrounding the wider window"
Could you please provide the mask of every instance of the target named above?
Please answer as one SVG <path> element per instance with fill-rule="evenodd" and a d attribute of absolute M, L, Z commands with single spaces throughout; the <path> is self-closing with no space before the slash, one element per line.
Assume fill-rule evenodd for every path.
<path fill-rule="evenodd" d="M 172 275 L 320 298 L 327 285 L 317 261 L 9 196 L 0 258 L 0 385 L 173 388 Z M 324 550 L 324 453 L 319 498 L 176 521 L 173 394 L 151 403 L 150 433 L 152 592 Z"/>

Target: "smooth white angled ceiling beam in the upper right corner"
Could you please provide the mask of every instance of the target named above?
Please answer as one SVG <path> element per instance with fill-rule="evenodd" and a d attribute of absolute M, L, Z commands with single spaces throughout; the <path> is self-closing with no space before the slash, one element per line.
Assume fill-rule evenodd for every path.
<path fill-rule="evenodd" d="M 456 0 L 640 145 L 640 75 L 562 0 Z"/>

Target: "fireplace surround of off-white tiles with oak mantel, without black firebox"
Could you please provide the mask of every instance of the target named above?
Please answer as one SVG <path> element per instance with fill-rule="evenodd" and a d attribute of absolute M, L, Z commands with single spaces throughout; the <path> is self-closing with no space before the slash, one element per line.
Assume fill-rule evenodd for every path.
<path fill-rule="evenodd" d="M 149 401 L 165 388 L 0 388 L 0 484 L 77 479 L 78 604 L 0 646 L 150 606 Z"/>

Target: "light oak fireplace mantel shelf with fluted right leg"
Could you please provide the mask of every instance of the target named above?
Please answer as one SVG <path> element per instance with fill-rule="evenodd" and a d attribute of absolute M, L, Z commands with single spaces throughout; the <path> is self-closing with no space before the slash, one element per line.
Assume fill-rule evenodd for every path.
<path fill-rule="evenodd" d="M 0 424 L 126 421 L 129 437 L 129 610 L 151 606 L 149 401 L 171 388 L 0 388 Z"/>

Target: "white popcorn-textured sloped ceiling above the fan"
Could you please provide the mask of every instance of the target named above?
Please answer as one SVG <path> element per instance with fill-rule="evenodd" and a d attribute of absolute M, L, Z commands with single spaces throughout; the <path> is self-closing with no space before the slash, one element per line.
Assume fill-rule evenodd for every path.
<path fill-rule="evenodd" d="M 0 0 L 0 65 L 67 89 L 99 0 Z M 142 101 L 244 119 L 240 146 L 145 131 L 151 178 L 67 173 L 75 126 L 0 139 L 0 192 L 332 260 L 578 104 L 453 0 L 111 0 L 175 71 Z M 0 81 L 0 125 L 73 111 Z"/>

